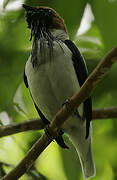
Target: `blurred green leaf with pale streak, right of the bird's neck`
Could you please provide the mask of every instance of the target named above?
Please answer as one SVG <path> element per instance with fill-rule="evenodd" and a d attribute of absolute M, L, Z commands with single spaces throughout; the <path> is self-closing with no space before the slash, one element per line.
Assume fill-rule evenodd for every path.
<path fill-rule="evenodd" d="M 101 59 L 104 55 L 104 44 L 95 23 L 92 23 L 91 28 L 86 33 L 77 36 L 75 43 L 86 60 Z"/>

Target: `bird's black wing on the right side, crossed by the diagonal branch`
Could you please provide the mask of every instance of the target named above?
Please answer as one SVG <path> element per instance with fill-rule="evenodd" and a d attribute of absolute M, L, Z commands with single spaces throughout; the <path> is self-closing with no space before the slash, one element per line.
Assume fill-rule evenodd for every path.
<path fill-rule="evenodd" d="M 74 69 L 78 78 L 79 85 L 82 86 L 88 77 L 88 71 L 80 51 L 71 40 L 65 40 L 64 43 L 72 52 Z M 86 118 L 86 138 L 89 136 L 90 121 L 92 119 L 92 100 L 91 97 L 84 101 L 84 115 Z"/>

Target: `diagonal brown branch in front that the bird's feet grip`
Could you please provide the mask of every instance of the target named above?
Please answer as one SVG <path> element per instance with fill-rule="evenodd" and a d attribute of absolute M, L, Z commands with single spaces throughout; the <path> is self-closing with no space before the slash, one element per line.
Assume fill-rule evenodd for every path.
<path fill-rule="evenodd" d="M 80 91 L 71 97 L 69 107 L 65 105 L 58 111 L 50 124 L 50 132 L 53 137 L 58 134 L 59 128 L 66 121 L 85 99 L 87 99 L 98 82 L 107 74 L 112 64 L 117 60 L 117 47 L 113 48 L 104 59 L 98 64 L 94 71 L 87 78 Z M 11 180 L 20 178 L 34 163 L 43 150 L 51 143 L 46 134 L 44 134 L 29 150 L 24 159 L 2 180 Z"/>

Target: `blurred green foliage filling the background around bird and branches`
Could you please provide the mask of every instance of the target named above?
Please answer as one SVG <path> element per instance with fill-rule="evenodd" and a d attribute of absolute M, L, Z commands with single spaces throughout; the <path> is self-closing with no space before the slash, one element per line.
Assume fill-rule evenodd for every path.
<path fill-rule="evenodd" d="M 20 4 L 23 2 L 17 1 Z M 0 4 L 0 112 L 7 113 L 9 123 L 38 116 L 23 84 L 24 66 L 31 50 L 30 32 L 22 7 L 8 8 L 14 2 L 4 0 Z M 105 53 L 117 44 L 117 0 L 26 0 L 25 3 L 50 6 L 64 18 L 70 39 L 75 41 L 85 57 L 89 73 Z M 86 32 L 77 35 L 87 3 L 92 9 L 94 20 Z M 114 64 L 92 94 L 94 108 L 116 106 L 116 76 L 117 64 Z M 97 169 L 96 177 L 92 178 L 94 180 L 117 179 L 116 129 L 116 120 L 93 122 L 93 151 Z M 23 158 L 41 133 L 25 132 L 0 140 L 0 177 Z M 70 146 L 69 151 L 51 143 L 32 169 L 20 179 L 82 180 L 75 149 L 66 136 L 65 139 Z"/>

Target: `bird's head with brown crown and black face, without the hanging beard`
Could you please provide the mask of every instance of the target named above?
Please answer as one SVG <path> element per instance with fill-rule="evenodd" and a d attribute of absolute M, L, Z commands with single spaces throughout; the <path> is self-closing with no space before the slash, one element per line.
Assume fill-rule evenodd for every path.
<path fill-rule="evenodd" d="M 53 29 L 66 32 L 63 19 L 52 8 L 43 6 L 31 7 L 25 4 L 23 7 L 26 10 L 26 20 L 32 36 L 40 38 L 41 33 L 48 33 Z"/>

